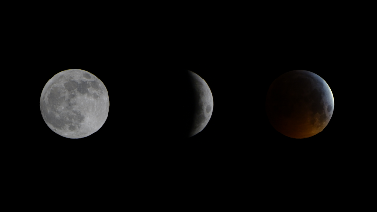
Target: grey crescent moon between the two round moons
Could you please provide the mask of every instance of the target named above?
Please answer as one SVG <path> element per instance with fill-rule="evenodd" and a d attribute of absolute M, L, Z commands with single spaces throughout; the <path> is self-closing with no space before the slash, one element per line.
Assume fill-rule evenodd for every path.
<path fill-rule="evenodd" d="M 201 132 L 210 121 L 214 100 L 210 87 L 208 87 L 204 79 L 192 71 L 188 71 L 188 73 L 193 88 L 193 120 L 192 128 L 188 135 L 188 137 L 192 137 Z"/>

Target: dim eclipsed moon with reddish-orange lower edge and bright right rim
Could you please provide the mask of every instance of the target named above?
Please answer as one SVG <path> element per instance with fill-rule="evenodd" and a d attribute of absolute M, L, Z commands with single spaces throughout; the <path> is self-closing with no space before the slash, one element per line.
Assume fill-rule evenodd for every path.
<path fill-rule="evenodd" d="M 313 72 L 284 73 L 269 87 L 266 113 L 271 125 L 291 138 L 308 138 L 321 132 L 334 111 L 328 84 Z"/>

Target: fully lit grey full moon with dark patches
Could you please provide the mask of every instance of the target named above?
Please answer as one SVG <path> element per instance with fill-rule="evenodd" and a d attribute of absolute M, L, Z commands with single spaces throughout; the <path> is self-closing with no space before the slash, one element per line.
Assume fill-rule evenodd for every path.
<path fill-rule="evenodd" d="M 105 85 L 93 74 L 69 69 L 57 73 L 42 90 L 40 108 L 47 126 L 66 138 L 87 137 L 108 117 Z"/>

